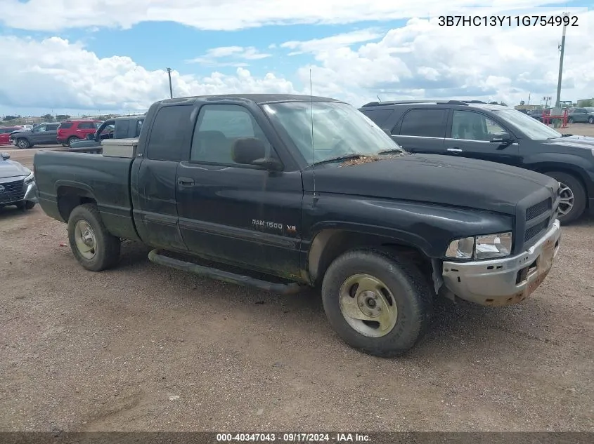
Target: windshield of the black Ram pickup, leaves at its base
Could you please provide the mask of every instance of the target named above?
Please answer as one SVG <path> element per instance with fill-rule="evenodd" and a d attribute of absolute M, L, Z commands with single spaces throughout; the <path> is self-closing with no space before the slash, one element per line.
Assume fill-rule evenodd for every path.
<path fill-rule="evenodd" d="M 342 156 L 401 150 L 373 121 L 346 103 L 283 102 L 264 105 L 263 109 L 309 165 Z"/>

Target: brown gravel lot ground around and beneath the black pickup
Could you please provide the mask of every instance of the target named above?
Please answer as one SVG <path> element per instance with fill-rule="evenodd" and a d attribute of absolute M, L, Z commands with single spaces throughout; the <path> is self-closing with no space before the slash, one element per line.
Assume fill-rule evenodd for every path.
<path fill-rule="evenodd" d="M 399 359 L 344 345 L 315 292 L 183 274 L 134 243 L 92 273 L 65 245 L 39 206 L 0 211 L 0 430 L 594 431 L 591 217 L 528 300 L 441 301 Z"/>

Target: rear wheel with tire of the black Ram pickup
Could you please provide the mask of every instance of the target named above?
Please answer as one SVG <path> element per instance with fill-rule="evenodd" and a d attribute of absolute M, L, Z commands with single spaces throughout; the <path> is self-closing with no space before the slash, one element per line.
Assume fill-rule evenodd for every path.
<path fill-rule="evenodd" d="M 83 237 L 89 243 L 85 244 Z M 105 229 L 101 215 L 93 203 L 77 206 L 70 213 L 68 241 L 77 261 L 87 270 L 109 269 L 115 267 L 120 259 L 120 238 L 112 236 Z M 83 251 L 86 249 L 83 247 L 91 245 L 91 250 Z"/>

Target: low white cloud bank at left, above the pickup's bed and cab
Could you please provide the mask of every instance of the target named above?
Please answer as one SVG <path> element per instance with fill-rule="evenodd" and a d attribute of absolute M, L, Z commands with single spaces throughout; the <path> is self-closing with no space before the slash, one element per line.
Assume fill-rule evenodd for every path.
<path fill-rule="evenodd" d="M 0 36 L 0 106 L 18 109 L 143 110 L 169 96 L 167 72 L 149 71 L 129 57 L 98 58 L 81 43 L 59 37 L 43 41 Z M 235 75 L 181 75 L 172 71 L 177 97 L 226 93 L 295 93 L 274 74 L 255 78 L 239 67 Z M 19 113 L 23 114 L 23 113 Z"/>

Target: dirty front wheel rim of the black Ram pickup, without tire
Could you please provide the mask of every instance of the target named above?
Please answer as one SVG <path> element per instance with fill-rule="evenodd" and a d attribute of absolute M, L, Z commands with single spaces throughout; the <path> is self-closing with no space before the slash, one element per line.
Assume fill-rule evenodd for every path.
<path fill-rule="evenodd" d="M 344 281 L 339 302 L 344 320 L 363 336 L 385 336 L 398 320 L 394 295 L 370 274 L 355 274 Z"/>

